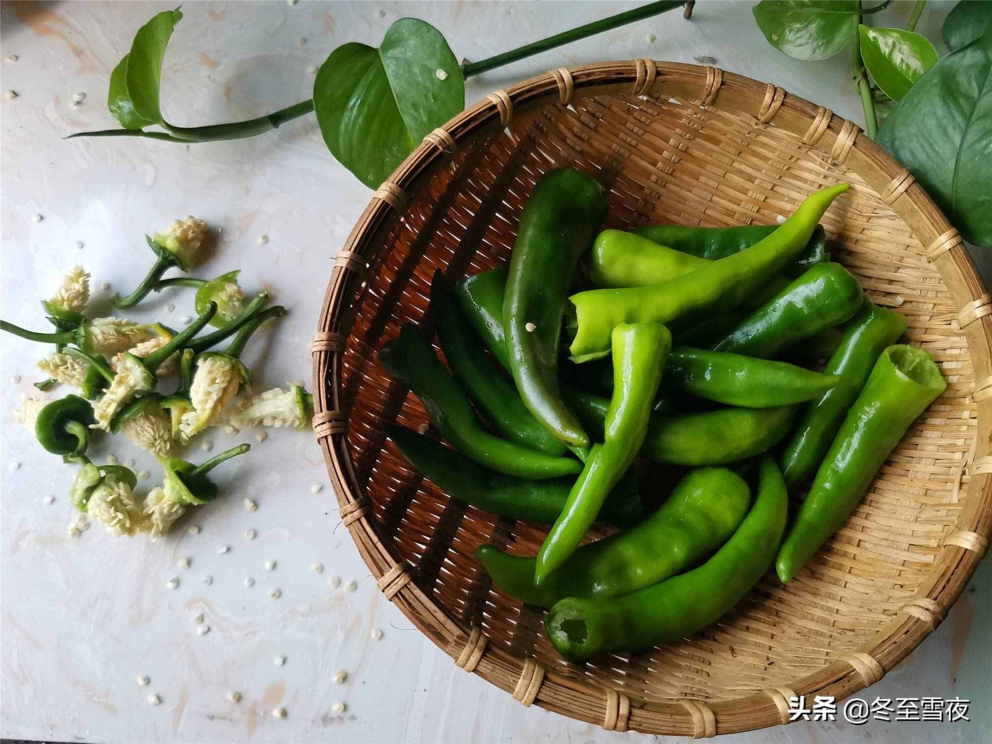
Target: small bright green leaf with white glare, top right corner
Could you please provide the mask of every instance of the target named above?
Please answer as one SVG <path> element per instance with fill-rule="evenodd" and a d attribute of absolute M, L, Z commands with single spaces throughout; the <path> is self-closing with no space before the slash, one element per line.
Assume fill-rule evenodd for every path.
<path fill-rule="evenodd" d="M 936 63 L 930 40 L 903 29 L 859 26 L 861 60 L 882 92 L 898 101 Z"/>

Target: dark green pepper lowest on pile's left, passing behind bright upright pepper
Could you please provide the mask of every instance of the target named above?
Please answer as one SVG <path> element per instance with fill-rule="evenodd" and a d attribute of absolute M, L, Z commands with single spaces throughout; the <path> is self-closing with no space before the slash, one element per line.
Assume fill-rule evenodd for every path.
<path fill-rule="evenodd" d="M 506 475 L 473 462 L 427 434 L 396 426 L 387 432 L 421 475 L 452 498 L 503 519 L 552 524 L 575 482 L 572 476 L 535 480 Z M 625 527 L 636 524 L 645 514 L 636 482 L 624 479 L 603 502 L 598 519 Z"/>

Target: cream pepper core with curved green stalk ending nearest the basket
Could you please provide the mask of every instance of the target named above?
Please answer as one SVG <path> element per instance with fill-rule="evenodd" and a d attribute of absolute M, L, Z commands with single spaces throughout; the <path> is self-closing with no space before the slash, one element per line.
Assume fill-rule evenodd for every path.
<path fill-rule="evenodd" d="M 251 383 L 248 368 L 238 357 L 263 322 L 285 314 L 286 309 L 280 305 L 262 310 L 238 329 L 226 351 L 206 351 L 196 357 L 196 373 L 189 386 L 193 410 L 183 414 L 180 421 L 184 440 L 216 424 L 242 383 Z"/>

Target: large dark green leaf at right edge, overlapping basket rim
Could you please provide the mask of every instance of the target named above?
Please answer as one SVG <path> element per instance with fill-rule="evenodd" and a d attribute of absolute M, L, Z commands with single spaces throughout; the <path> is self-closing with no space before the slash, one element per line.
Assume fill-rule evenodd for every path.
<path fill-rule="evenodd" d="M 886 118 L 878 142 L 965 240 L 992 247 L 992 34 L 930 67 Z"/>

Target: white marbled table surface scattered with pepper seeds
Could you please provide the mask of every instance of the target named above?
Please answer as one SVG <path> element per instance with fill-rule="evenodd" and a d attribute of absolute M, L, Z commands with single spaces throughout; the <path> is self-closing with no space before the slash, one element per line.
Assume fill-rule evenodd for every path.
<path fill-rule="evenodd" d="M 200 272 L 243 270 L 250 291 L 271 289 L 291 309 L 247 354 L 262 389 L 310 380 L 315 327 L 331 258 L 370 192 L 324 149 L 312 117 L 252 140 L 191 147 L 138 139 L 62 141 L 115 126 L 104 100 L 112 67 L 135 31 L 176 2 L 46 3 L 2 8 L 2 315 L 44 325 L 38 300 L 81 263 L 93 275 L 96 308 L 144 274 L 144 234 L 195 214 L 222 228 L 215 258 Z M 376 45 L 397 18 L 434 24 L 455 55 L 479 60 L 558 30 L 631 7 L 629 2 L 380 3 L 186 2 L 163 72 L 167 115 L 178 124 L 230 121 L 310 96 L 310 64 L 347 41 Z M 904 18 L 911 3 L 901 3 Z M 795 62 L 768 47 L 751 3 L 710 2 L 693 20 L 679 11 L 480 75 L 472 103 L 550 67 L 654 57 L 716 63 L 771 80 L 859 121 L 847 56 Z M 930 3 L 921 29 L 938 29 Z M 648 35 L 657 37 L 648 42 Z M 938 38 L 932 34 L 931 38 Z M 303 40 L 306 40 L 304 42 Z M 9 55 L 16 62 L 6 61 Z M 705 61 L 703 58 L 713 58 Z M 71 95 L 85 92 L 79 105 Z M 42 221 L 33 221 L 41 214 Z M 259 245 L 257 239 L 268 236 Z M 75 241 L 84 247 L 77 249 Z M 109 290 L 101 290 L 107 282 Z M 167 303 L 178 308 L 166 311 Z M 188 291 L 153 296 L 137 317 L 173 325 L 191 310 Z M 73 468 L 41 450 L 14 423 L 22 391 L 40 378 L 42 349 L 2 341 L 0 499 L 0 734 L 61 741 L 619 741 L 510 695 L 451 664 L 376 590 L 347 531 L 335 528 L 333 495 L 308 433 L 211 432 L 214 451 L 238 440 L 252 451 L 218 472 L 224 495 L 200 508 L 198 535 L 156 545 L 115 539 L 98 528 L 71 539 L 67 488 Z M 14 383 L 13 376 L 21 375 Z M 97 461 L 106 447 L 98 448 Z M 125 440 L 109 451 L 159 470 Z M 191 458 L 206 456 L 196 448 Z M 15 465 L 20 467 L 15 469 Z M 147 488 L 153 481 L 143 481 Z M 314 483 L 324 484 L 317 494 Z M 43 497 L 53 495 L 53 505 Z M 245 497 L 257 512 L 245 510 Z M 189 524 L 189 523 L 187 523 Z M 258 537 L 249 542 L 245 531 Z M 230 552 L 218 555 L 221 546 Z M 179 558 L 191 558 L 183 570 Z M 269 572 L 265 561 L 276 560 Z M 321 563 L 323 572 L 311 570 Z M 179 577 L 179 588 L 166 581 Z M 205 585 L 202 577 L 212 576 Z M 246 588 L 246 576 L 255 579 Z M 354 580 L 353 593 L 328 584 Z M 943 625 L 871 696 L 970 697 L 970 724 L 797 723 L 729 737 L 738 742 L 851 740 L 988 741 L 990 578 L 986 564 Z M 282 589 L 271 599 L 271 587 Z M 191 618 L 210 626 L 197 635 Z M 379 641 L 373 628 L 383 630 Z M 279 667 L 274 658 L 286 656 Z M 332 676 L 346 670 L 347 682 Z M 151 684 L 138 686 L 148 676 Z M 227 700 L 229 690 L 243 699 Z M 161 695 L 153 707 L 146 697 Z M 869 699 L 871 699 L 871 696 Z M 343 715 L 331 710 L 343 701 Z M 284 705 L 288 717 L 271 715 Z M 639 735 L 631 734 L 632 738 Z"/>

